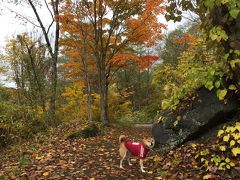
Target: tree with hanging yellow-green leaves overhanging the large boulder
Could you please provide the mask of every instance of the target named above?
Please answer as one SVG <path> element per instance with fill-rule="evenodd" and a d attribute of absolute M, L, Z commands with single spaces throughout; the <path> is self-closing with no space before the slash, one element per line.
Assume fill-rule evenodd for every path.
<path fill-rule="evenodd" d="M 201 27 L 205 30 L 209 47 L 217 46 L 224 48 L 226 65 L 229 71 L 226 74 L 229 79 L 234 81 L 229 90 L 239 90 L 240 82 L 240 2 L 236 0 L 168 0 L 168 20 L 181 20 L 181 12 L 192 11 L 201 20 Z M 233 88 L 234 87 L 234 88 Z M 227 89 L 224 89 L 226 92 Z"/>

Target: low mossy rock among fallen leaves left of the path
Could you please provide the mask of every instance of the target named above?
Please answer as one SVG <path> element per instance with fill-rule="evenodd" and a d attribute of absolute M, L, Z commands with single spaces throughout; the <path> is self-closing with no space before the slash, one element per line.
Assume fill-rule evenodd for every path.
<path fill-rule="evenodd" d="M 84 129 L 78 130 L 78 131 L 74 131 L 71 132 L 67 135 L 65 135 L 65 140 L 69 140 L 69 139 L 74 139 L 74 138 L 89 138 L 89 137 L 95 137 L 98 136 L 100 134 L 100 129 L 97 127 L 97 125 L 95 124 L 90 124 L 89 126 L 87 126 Z"/>

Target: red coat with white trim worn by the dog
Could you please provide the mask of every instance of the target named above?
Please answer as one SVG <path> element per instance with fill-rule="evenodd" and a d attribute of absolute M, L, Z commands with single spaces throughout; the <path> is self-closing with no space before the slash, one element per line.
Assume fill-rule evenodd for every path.
<path fill-rule="evenodd" d="M 143 142 L 136 143 L 132 141 L 125 141 L 124 145 L 133 156 L 137 156 L 140 159 L 144 159 L 149 151 L 149 149 L 145 147 Z"/>

